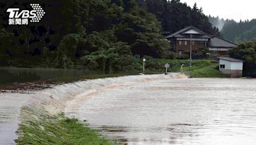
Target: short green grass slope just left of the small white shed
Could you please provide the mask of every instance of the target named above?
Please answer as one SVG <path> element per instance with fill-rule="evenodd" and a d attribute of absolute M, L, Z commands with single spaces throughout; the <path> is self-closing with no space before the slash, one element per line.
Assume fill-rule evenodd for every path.
<path fill-rule="evenodd" d="M 192 78 L 226 78 L 227 76 L 218 70 L 218 64 L 211 64 L 200 69 L 186 72 Z"/>

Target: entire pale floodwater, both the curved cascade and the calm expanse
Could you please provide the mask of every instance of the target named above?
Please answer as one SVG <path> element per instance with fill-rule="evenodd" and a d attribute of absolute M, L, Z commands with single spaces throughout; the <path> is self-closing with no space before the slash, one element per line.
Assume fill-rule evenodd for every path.
<path fill-rule="evenodd" d="M 87 120 L 127 144 L 256 144 L 255 84 L 256 79 L 159 74 L 0 93 L 0 142 L 15 139 L 20 108 L 33 105 Z"/>

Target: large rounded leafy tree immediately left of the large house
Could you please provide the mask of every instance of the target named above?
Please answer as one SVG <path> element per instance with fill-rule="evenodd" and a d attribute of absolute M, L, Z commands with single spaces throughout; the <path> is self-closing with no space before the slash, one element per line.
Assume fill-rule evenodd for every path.
<path fill-rule="evenodd" d="M 160 57 L 169 48 L 168 41 L 161 34 L 161 24 L 147 10 L 132 5 L 122 15 L 122 22 L 116 31 L 118 39 L 131 45 L 133 53 Z"/>

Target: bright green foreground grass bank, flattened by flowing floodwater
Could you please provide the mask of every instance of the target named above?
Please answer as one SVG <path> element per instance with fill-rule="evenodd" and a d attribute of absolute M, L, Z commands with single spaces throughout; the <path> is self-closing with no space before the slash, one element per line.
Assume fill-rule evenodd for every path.
<path fill-rule="evenodd" d="M 118 144 L 63 113 L 50 115 L 43 109 L 24 107 L 22 117 L 17 144 Z"/>

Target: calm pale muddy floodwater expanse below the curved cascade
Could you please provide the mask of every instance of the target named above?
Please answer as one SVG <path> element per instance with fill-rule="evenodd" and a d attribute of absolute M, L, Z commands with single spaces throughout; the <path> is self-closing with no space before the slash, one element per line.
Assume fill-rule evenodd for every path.
<path fill-rule="evenodd" d="M 81 98 L 68 116 L 127 144 L 256 144 L 256 79 L 145 80 Z"/>

